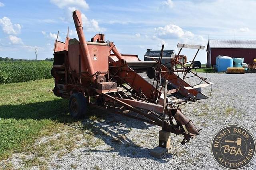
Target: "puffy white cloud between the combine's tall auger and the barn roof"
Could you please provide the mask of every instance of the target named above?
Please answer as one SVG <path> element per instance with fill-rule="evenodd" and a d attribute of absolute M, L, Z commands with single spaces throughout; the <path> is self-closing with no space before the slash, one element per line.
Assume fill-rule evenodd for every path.
<path fill-rule="evenodd" d="M 192 32 L 184 32 L 182 28 L 174 24 L 170 24 L 164 27 L 155 28 L 158 38 L 163 39 L 173 39 L 173 38 L 182 38 L 184 36 L 192 38 L 194 34 Z"/>

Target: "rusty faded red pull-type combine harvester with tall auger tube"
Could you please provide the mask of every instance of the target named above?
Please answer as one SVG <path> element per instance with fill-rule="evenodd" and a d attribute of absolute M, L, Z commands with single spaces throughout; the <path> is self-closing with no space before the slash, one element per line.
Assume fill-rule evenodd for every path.
<path fill-rule="evenodd" d="M 79 41 L 67 36 L 65 42 L 59 42 L 57 38 L 52 68 L 54 95 L 69 99 L 72 117 L 83 117 L 90 105 L 158 125 L 162 127 L 159 143 L 165 149 L 170 132 L 183 135 L 182 143 L 199 134 L 177 103 L 208 98 L 198 89 L 212 83 L 193 73 L 191 65 L 187 67 L 184 62 L 186 56 L 180 55 L 182 48 L 197 49 L 197 55 L 204 46 L 178 44 L 180 51 L 170 57 L 168 68 L 161 64 L 164 45 L 159 59 L 140 61 L 138 55 L 120 54 L 113 42 L 105 42 L 104 34 L 96 34 L 86 42 L 79 11 L 73 12 L 73 19 Z M 205 83 L 192 87 L 184 81 L 187 73 Z M 96 102 L 90 102 L 90 97 Z"/>

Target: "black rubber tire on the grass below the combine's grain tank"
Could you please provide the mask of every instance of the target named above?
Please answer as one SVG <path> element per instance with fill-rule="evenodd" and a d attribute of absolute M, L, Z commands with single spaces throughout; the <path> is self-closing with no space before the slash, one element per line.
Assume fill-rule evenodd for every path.
<path fill-rule="evenodd" d="M 69 99 L 70 115 L 76 119 L 81 119 L 86 114 L 86 109 L 87 102 L 82 93 L 73 93 Z"/>

